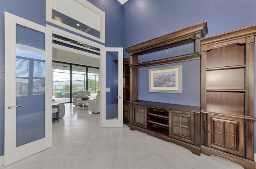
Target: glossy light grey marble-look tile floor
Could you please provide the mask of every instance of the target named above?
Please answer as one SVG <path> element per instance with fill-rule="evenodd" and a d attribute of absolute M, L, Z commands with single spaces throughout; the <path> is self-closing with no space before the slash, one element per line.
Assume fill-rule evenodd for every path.
<path fill-rule="evenodd" d="M 53 123 L 53 146 L 1 169 L 243 169 L 217 156 L 188 149 L 139 131 L 101 128 L 100 114 L 66 103 Z"/>

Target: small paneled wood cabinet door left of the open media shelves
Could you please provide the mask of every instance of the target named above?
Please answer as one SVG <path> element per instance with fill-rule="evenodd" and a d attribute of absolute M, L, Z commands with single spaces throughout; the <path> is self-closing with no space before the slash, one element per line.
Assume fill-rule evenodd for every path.
<path fill-rule="evenodd" d="M 133 109 L 132 124 L 146 129 L 147 128 L 146 106 L 133 104 L 132 109 Z"/>

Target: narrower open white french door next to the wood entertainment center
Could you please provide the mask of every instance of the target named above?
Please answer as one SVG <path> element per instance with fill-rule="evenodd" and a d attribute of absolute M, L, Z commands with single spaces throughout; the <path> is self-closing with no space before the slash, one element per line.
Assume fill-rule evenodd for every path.
<path fill-rule="evenodd" d="M 102 48 L 100 68 L 101 125 L 123 127 L 123 48 Z"/>

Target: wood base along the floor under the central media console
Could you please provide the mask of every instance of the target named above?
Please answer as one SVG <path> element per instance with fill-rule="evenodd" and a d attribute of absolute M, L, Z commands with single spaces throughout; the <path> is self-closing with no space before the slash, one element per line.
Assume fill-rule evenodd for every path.
<path fill-rule="evenodd" d="M 137 127 L 137 126 L 132 125 L 132 124 L 130 124 L 128 126 L 130 127 L 130 130 L 142 131 L 143 133 L 146 133 L 146 134 L 151 135 L 153 137 L 157 137 L 157 138 L 162 139 L 164 141 L 169 141 L 171 143 L 174 143 L 174 144 L 180 145 L 182 147 L 185 147 L 186 149 L 189 149 L 192 153 L 194 153 L 196 155 L 199 155 L 199 156 L 201 155 L 201 148 L 197 147 L 195 145 L 192 145 L 192 144 L 189 144 L 189 143 L 186 143 L 184 141 L 177 140 L 177 139 L 172 139 L 171 137 L 168 137 L 168 136 L 163 135 L 161 133 L 157 133 L 155 131 L 150 131 L 148 129 Z"/>

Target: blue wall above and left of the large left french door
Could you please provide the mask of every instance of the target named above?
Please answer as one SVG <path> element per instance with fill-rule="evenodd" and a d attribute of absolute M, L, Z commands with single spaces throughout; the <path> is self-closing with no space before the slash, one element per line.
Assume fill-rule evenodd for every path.
<path fill-rule="evenodd" d="M 4 11 L 45 26 L 45 0 L 0 0 L 0 156 L 4 155 Z"/>

